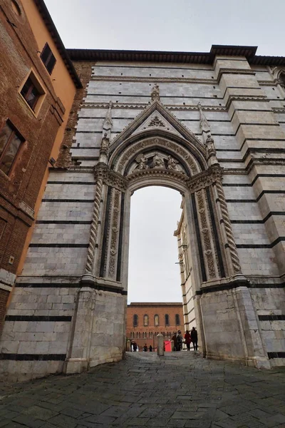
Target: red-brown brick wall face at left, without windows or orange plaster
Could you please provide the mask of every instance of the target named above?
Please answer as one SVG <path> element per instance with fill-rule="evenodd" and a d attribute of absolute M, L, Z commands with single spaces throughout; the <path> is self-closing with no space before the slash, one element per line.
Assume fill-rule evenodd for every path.
<path fill-rule="evenodd" d="M 39 17 L 35 19 L 40 25 Z M 68 114 L 70 106 L 63 106 L 53 88 L 54 76 L 49 75 L 38 55 L 41 48 L 22 6 L 19 17 L 11 7 L 11 1 L 4 0 L 0 21 L 0 130 L 9 119 L 24 137 L 9 175 L 0 170 L 0 270 L 3 280 L 18 270 L 48 160 L 64 111 Z M 40 107 L 37 113 L 29 108 L 19 93 L 31 69 L 45 91 L 42 99 L 38 100 Z M 8 284 L 4 279 L 6 285 L 13 283 Z M 7 291 L 2 290 L 1 293 L 6 296 Z M 6 297 L 0 300 L 0 314 L 5 310 Z"/>

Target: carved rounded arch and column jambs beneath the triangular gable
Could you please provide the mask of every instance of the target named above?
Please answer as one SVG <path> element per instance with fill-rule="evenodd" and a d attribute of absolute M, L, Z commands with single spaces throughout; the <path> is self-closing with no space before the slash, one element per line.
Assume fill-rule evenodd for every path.
<path fill-rule="evenodd" d="M 207 165 L 193 142 L 144 135 L 121 143 L 109 161 L 95 166 L 96 203 L 86 275 L 127 290 L 130 197 L 149 185 L 173 188 L 184 198 L 196 290 L 241 274 L 222 172 L 219 163 Z"/>

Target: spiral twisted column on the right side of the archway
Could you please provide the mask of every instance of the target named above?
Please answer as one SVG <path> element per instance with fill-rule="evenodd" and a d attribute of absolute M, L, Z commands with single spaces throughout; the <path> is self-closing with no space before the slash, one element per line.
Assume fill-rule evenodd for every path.
<path fill-rule="evenodd" d="M 232 259 L 232 266 L 234 267 L 234 272 L 242 272 L 242 269 L 239 265 L 239 255 L 237 254 L 237 246 L 234 240 L 234 234 L 232 233 L 232 223 L 229 220 L 229 212 L 227 210 L 227 202 L 224 198 L 224 189 L 222 188 L 222 183 L 220 180 L 216 181 L 217 195 L 219 198 L 219 205 L 222 212 L 222 220 L 224 220 L 224 230 L 227 235 L 227 243 L 229 245 L 229 253 Z"/>

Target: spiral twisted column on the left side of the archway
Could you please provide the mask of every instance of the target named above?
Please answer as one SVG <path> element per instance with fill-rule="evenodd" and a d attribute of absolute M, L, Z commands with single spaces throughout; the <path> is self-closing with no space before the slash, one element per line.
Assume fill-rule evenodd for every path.
<path fill-rule="evenodd" d="M 95 244 L 96 244 L 98 221 L 99 221 L 99 215 L 100 215 L 100 199 L 102 195 L 102 188 L 103 188 L 103 180 L 102 178 L 98 178 L 98 181 L 96 183 L 92 223 L 90 227 L 89 246 L 88 246 L 87 261 L 86 261 L 86 267 L 85 267 L 85 272 L 91 275 L 93 275 Z"/>

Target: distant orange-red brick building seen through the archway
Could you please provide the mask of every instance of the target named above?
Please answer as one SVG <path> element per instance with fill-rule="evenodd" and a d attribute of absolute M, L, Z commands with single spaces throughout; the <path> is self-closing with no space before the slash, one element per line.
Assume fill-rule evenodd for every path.
<path fill-rule="evenodd" d="M 184 332 L 182 303 L 130 303 L 127 308 L 127 338 L 139 347 L 156 347 L 160 333 L 170 339 L 174 332 Z"/>

